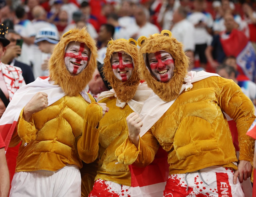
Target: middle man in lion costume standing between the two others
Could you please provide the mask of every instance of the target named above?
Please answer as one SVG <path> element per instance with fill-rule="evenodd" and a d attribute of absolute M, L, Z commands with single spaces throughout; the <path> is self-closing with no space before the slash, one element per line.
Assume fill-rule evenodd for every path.
<path fill-rule="evenodd" d="M 131 173 L 128 166 L 116 164 L 116 148 L 128 135 L 126 117 L 132 112 L 140 113 L 144 100 L 152 93 L 146 84 L 140 84 L 138 76 L 137 42 L 118 39 L 107 45 L 103 73 L 113 87 L 102 92 L 99 102 L 106 103 L 110 113 L 99 122 L 98 129 L 83 133 L 83 153 L 87 163 L 100 156 L 99 169 L 93 190 L 89 196 L 131 196 Z M 151 135 L 143 136 L 145 142 L 151 142 Z M 157 141 L 155 140 L 157 143 Z"/>

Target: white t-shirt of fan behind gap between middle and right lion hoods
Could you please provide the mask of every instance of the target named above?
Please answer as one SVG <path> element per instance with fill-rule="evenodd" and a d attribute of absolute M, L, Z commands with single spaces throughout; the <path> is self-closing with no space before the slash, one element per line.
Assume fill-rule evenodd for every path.
<path fill-rule="evenodd" d="M 159 29 L 156 25 L 147 22 L 143 27 L 139 27 L 137 24 L 134 25 L 134 29 L 137 29 L 135 40 L 138 40 L 141 36 L 149 37 L 149 35 L 152 35 L 154 33 L 159 33 Z"/>

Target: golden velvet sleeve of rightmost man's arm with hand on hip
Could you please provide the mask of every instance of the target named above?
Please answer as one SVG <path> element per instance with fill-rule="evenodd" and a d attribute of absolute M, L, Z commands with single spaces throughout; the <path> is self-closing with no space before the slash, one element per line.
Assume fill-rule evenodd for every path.
<path fill-rule="evenodd" d="M 234 119 L 237 125 L 239 160 L 252 162 L 254 140 L 246 135 L 246 132 L 255 119 L 253 103 L 233 80 L 218 77 L 218 85 L 220 88 L 219 106 L 223 112 Z"/>

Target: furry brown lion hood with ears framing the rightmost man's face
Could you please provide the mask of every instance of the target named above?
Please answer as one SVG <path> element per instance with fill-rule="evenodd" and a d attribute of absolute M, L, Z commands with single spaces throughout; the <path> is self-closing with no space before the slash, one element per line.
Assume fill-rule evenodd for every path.
<path fill-rule="evenodd" d="M 185 55 L 182 44 L 171 37 L 171 32 L 163 30 L 161 34 L 154 34 L 149 38 L 140 37 L 138 44 L 141 46 L 139 50 L 139 73 L 147 82 L 148 87 L 153 89 L 163 101 L 172 101 L 179 95 L 179 91 L 184 82 L 184 77 L 187 74 L 189 61 Z M 155 79 L 146 67 L 143 56 L 147 53 L 155 53 L 157 51 L 166 51 L 174 58 L 174 72 L 173 77 L 169 82 L 163 83 Z M 146 60 L 147 62 L 147 60 Z"/>

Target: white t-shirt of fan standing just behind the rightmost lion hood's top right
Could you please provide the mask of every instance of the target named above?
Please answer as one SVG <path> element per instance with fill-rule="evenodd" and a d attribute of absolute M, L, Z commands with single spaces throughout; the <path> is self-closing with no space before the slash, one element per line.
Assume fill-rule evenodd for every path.
<path fill-rule="evenodd" d="M 172 36 L 175 37 L 179 42 L 182 42 L 184 51 L 195 50 L 195 28 L 194 25 L 187 19 L 183 19 L 174 24 L 173 28 L 171 29 L 171 33 Z"/>

